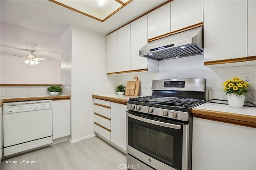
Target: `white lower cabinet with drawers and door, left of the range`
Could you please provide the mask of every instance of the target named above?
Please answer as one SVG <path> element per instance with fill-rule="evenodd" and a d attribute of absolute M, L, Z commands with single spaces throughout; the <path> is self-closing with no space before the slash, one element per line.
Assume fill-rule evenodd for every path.
<path fill-rule="evenodd" d="M 94 131 L 117 149 L 126 152 L 126 105 L 94 99 Z"/>

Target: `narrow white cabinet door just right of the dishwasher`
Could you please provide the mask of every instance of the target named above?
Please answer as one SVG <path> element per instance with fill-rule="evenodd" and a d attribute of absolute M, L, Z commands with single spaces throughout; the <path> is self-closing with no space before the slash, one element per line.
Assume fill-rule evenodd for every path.
<path fill-rule="evenodd" d="M 70 100 L 52 101 L 52 139 L 70 135 Z"/>

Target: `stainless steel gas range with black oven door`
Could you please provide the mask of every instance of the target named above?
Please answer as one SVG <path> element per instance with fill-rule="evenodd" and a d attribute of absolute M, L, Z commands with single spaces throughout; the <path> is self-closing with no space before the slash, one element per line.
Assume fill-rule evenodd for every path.
<path fill-rule="evenodd" d="M 130 98 L 128 168 L 191 170 L 191 109 L 204 102 L 204 78 L 153 80 L 152 96 Z"/>

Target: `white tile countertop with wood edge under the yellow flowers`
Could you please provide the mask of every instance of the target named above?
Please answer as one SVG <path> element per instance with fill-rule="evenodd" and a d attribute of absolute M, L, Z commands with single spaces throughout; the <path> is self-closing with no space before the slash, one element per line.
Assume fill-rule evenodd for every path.
<path fill-rule="evenodd" d="M 193 117 L 256 128 L 256 107 L 206 102 L 192 108 Z"/>

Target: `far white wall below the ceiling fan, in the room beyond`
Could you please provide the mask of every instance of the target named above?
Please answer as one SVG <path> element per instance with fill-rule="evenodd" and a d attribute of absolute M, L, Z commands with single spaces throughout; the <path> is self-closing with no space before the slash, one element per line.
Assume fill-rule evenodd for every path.
<path fill-rule="evenodd" d="M 1 84 L 60 84 L 60 61 L 26 64 L 22 57 L 1 53 Z"/>

